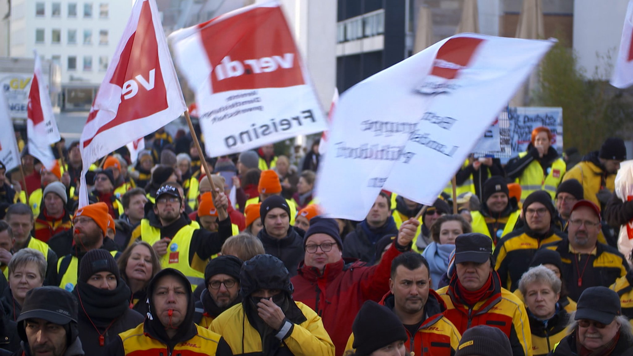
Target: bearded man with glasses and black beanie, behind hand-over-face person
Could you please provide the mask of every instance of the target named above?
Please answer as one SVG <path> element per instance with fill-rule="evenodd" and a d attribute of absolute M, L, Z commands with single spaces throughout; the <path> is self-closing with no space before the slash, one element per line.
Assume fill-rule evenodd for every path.
<path fill-rule="evenodd" d="M 213 319 L 228 308 L 241 303 L 239 295 L 239 270 L 242 260 L 235 256 L 222 255 L 213 258 L 204 269 L 206 288 L 196 302 L 196 324 L 207 329 Z"/>

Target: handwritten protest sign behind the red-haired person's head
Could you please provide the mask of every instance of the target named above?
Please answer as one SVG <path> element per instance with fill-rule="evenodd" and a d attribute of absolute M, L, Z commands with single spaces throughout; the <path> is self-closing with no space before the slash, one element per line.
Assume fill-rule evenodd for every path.
<path fill-rule="evenodd" d="M 508 110 L 512 154 L 525 151 L 532 140 L 532 130 L 547 127 L 552 133 L 552 147 L 563 152 L 563 108 L 518 107 Z"/>

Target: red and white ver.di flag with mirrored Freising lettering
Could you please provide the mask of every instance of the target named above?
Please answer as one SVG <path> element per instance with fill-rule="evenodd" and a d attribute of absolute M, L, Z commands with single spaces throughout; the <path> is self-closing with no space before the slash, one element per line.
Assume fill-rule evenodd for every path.
<path fill-rule="evenodd" d="M 209 156 L 327 129 L 279 3 L 255 4 L 169 36 L 196 92 Z"/>

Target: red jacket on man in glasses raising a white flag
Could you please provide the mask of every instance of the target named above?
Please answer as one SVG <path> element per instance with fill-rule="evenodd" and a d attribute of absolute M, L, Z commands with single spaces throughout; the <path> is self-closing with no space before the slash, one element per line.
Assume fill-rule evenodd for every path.
<path fill-rule="evenodd" d="M 323 275 L 302 261 L 299 274 L 292 277 L 292 299 L 315 310 L 323 319 L 325 331 L 341 356 L 352 333 L 354 318 L 367 300 L 379 302 L 389 291 L 391 261 L 401 253 L 392 244 L 379 265 L 367 265 L 357 260 L 343 259 L 325 265 Z M 346 262 L 348 262 L 346 264 Z M 351 262 L 351 263 L 350 263 Z"/>

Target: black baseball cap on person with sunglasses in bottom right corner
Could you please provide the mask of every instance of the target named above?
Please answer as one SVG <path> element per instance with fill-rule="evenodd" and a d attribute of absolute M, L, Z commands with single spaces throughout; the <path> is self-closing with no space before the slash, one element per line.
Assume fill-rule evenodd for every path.
<path fill-rule="evenodd" d="M 596 301 L 600 301 L 596 303 Z M 589 319 L 602 324 L 611 324 L 613 319 L 622 315 L 620 297 L 609 288 L 599 286 L 585 289 L 576 305 L 574 320 Z"/>

